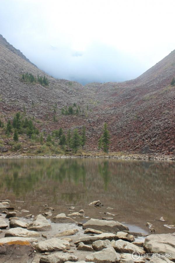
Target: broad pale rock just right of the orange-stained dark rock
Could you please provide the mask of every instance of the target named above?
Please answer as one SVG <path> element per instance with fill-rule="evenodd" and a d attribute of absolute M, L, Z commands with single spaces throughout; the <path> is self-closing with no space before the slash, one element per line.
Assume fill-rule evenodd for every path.
<path fill-rule="evenodd" d="M 52 252 L 61 251 L 64 249 L 70 249 L 69 241 L 59 238 L 51 238 L 45 241 L 41 241 L 35 245 L 35 249 L 38 252 Z"/>

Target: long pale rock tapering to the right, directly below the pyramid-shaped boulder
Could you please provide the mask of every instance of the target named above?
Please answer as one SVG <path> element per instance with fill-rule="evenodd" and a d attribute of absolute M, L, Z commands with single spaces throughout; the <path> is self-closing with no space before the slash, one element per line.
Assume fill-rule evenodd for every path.
<path fill-rule="evenodd" d="M 40 236 L 39 233 L 35 231 L 29 231 L 27 229 L 16 227 L 11 228 L 5 233 L 5 237 L 7 236 L 17 236 L 17 237 L 38 237 Z"/>

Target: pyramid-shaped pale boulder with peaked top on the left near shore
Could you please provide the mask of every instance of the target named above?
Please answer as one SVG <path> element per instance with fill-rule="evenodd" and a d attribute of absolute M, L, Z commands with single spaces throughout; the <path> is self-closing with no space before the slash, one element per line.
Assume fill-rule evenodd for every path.
<path fill-rule="evenodd" d="M 37 215 L 31 224 L 29 224 L 28 230 L 34 231 L 50 231 L 52 230 L 51 225 L 47 221 L 46 217 L 42 214 Z"/>

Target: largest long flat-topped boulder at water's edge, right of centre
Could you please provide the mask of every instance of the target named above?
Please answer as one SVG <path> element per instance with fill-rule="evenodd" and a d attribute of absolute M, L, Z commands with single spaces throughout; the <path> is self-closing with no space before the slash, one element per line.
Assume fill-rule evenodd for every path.
<path fill-rule="evenodd" d="M 92 228 L 100 231 L 106 232 L 118 232 L 123 230 L 129 230 L 127 226 L 117 222 L 117 221 L 106 221 L 100 219 L 91 218 L 85 224 L 83 224 L 83 229 Z"/>

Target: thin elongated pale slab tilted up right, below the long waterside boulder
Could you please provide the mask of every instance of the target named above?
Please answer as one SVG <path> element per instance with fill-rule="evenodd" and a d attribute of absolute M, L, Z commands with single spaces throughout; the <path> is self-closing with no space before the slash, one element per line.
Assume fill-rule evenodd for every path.
<path fill-rule="evenodd" d="M 75 244 L 78 244 L 80 242 L 83 242 L 85 244 L 92 244 L 96 240 L 105 240 L 105 239 L 116 240 L 117 236 L 115 234 L 112 234 L 112 233 L 103 233 L 103 234 L 99 234 L 99 235 L 95 235 L 95 236 L 87 236 L 87 237 L 79 238 L 75 242 Z"/>

